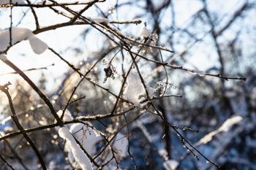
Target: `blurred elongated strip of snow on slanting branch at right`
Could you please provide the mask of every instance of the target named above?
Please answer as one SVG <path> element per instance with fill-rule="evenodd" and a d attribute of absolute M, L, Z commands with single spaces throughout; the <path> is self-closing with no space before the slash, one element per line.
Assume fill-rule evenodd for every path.
<path fill-rule="evenodd" d="M 222 126 L 220 126 L 216 131 L 212 131 L 211 133 L 204 136 L 202 139 L 200 139 L 199 144 L 206 144 L 211 141 L 211 139 L 216 135 L 219 134 L 222 131 L 228 131 L 234 124 L 239 123 L 243 117 L 241 116 L 235 116 L 227 119 Z"/>

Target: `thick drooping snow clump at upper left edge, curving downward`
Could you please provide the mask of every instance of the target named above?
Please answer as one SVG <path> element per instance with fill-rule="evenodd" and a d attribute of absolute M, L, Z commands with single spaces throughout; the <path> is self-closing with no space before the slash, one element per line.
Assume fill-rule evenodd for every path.
<path fill-rule="evenodd" d="M 48 49 L 48 45 L 42 40 L 38 39 L 37 36 L 28 28 L 12 28 L 12 45 L 16 42 L 23 40 L 29 40 L 32 50 L 36 54 L 42 54 Z M 0 51 L 4 51 L 10 45 L 10 30 L 0 32 Z"/>

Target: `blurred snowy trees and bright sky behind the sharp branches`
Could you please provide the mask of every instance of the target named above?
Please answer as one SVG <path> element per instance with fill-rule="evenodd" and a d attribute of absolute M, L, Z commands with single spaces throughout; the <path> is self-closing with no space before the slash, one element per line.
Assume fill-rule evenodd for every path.
<path fill-rule="evenodd" d="M 38 1 L 31 1 L 36 3 Z M 64 1 L 58 1 L 64 2 Z M 218 77 L 192 74 L 178 69 L 166 68 L 169 84 L 168 94 L 182 98 L 155 100 L 157 108 L 172 125 L 182 125 L 198 132 L 181 131 L 186 139 L 222 169 L 256 169 L 256 1 L 255 0 L 111 0 L 94 4 L 86 17 L 103 17 L 109 20 L 132 20 L 140 18 L 142 23 L 110 24 L 129 37 L 138 38 L 144 27 L 157 34 L 160 46 L 174 53 L 162 51 L 164 62 L 181 65 L 211 74 L 230 77 L 246 77 L 243 80 L 224 80 Z M 79 10 L 82 7 L 72 7 Z M 50 26 L 67 21 L 50 8 L 34 8 L 40 26 Z M 32 12 L 28 7 L 13 7 L 13 26 L 35 29 Z M 0 8 L 0 28 L 10 26 L 10 8 Z M 91 26 L 69 26 L 45 31 L 37 35 L 56 50 L 63 58 L 81 72 L 105 57 L 105 61 L 120 50 L 110 40 Z M 146 58 L 161 61 L 159 50 L 143 53 Z M 121 50 L 113 59 L 115 79 L 105 79 L 105 63 L 100 61 L 89 77 L 118 94 L 128 70 L 126 51 Z M 29 42 L 12 47 L 7 57 L 33 80 L 50 98 L 56 110 L 67 104 L 73 88 L 80 81 L 79 75 L 60 61 L 50 50 L 35 55 Z M 166 80 L 161 65 L 140 59 L 141 74 L 152 88 L 161 87 Z M 0 63 L 0 84 L 12 83 L 10 93 L 20 122 L 24 128 L 53 123 L 48 108 L 18 74 Z M 115 98 L 84 80 L 73 96 L 80 99 L 68 106 L 74 117 L 111 112 Z M 17 131 L 10 118 L 10 107 L 4 93 L 0 93 L 1 136 Z M 132 119 L 140 110 L 127 115 Z M 233 121 L 239 117 L 238 121 Z M 102 120 L 108 128 L 124 120 L 110 118 Z M 104 125 L 92 122 L 97 128 Z M 213 133 L 214 132 L 214 133 Z M 128 134 L 124 129 L 124 134 Z M 213 134 L 210 134 L 213 133 Z M 64 152 L 64 141 L 54 128 L 29 134 L 42 152 L 48 169 L 71 169 Z M 199 161 L 183 147 L 169 127 L 150 113 L 129 125 L 130 152 L 138 169 L 165 169 L 164 162 L 173 160 L 176 169 L 216 169 L 199 156 Z M 23 136 L 15 136 L 0 142 L 0 154 L 17 169 L 36 169 L 37 158 Z M 127 156 L 121 161 L 121 169 L 135 169 Z M 8 169 L 0 160 L 0 169 Z M 39 167 L 38 167 L 39 169 Z"/>

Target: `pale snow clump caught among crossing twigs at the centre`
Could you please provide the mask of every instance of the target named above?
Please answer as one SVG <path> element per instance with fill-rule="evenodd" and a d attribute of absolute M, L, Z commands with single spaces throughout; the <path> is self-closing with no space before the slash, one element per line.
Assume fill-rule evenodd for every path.
<path fill-rule="evenodd" d="M 154 95 L 154 88 L 147 87 L 147 90 L 148 96 Z M 133 104 L 138 105 L 140 101 L 145 99 L 143 96 L 146 96 L 145 88 L 136 69 L 132 69 L 127 77 L 127 88 L 124 90 L 124 97 Z"/>

